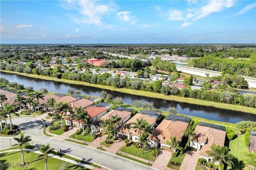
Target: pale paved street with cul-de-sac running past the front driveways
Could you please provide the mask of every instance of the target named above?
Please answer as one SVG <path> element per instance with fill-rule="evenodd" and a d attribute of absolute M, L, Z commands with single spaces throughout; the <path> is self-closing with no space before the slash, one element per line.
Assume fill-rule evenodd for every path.
<path fill-rule="evenodd" d="M 50 138 L 42 134 L 42 128 L 44 124 L 42 121 L 36 118 L 30 117 L 20 117 L 12 119 L 14 125 L 18 125 L 22 130 L 24 130 L 25 136 L 32 136 L 33 144 L 41 144 L 45 142 L 50 143 L 50 146 L 55 148 L 55 150 L 62 150 L 65 154 L 70 154 L 72 156 L 77 156 L 84 160 L 91 161 L 93 163 L 99 164 L 109 169 L 113 170 L 147 170 L 154 169 L 137 162 L 124 159 L 120 156 L 110 154 L 98 149 L 90 148 L 87 146 L 82 146 L 80 144 L 75 144 L 72 142 L 67 142 L 65 140 L 59 140 L 56 138 Z M 0 138 L 0 148 L 10 147 L 10 138 Z M 15 141 L 11 139 L 11 143 L 15 144 Z"/>

